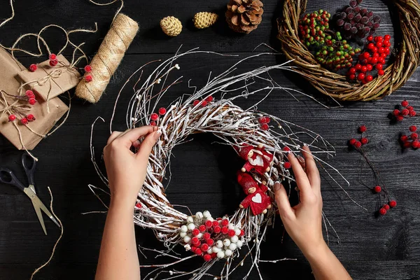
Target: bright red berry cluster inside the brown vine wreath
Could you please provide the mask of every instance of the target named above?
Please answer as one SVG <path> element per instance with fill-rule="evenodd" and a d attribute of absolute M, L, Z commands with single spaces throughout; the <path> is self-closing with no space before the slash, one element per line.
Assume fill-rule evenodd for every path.
<path fill-rule="evenodd" d="M 373 80 L 370 71 L 377 70 L 379 76 L 384 75 L 386 57 L 391 53 L 389 40 L 391 36 L 367 36 L 367 50 L 358 56 L 359 63 L 349 69 L 347 75 L 350 80 L 360 80 L 361 83 L 369 83 Z"/>

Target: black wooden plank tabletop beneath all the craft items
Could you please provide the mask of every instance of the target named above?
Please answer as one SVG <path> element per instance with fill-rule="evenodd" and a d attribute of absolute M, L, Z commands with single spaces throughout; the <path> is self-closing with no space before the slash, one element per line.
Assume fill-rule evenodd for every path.
<path fill-rule="evenodd" d="M 332 11 L 346 1 L 309 1 L 308 11 L 324 8 Z M 183 59 L 181 71 L 186 82 L 192 78 L 195 85 L 202 85 L 209 71 L 220 73 L 240 57 L 251 55 L 253 48 L 267 43 L 278 48 L 276 41 L 276 18 L 281 11 L 279 1 L 265 1 L 264 20 L 257 30 L 243 36 L 230 31 L 225 24 L 223 13 L 225 1 L 127 1 L 123 13 L 137 20 L 140 31 L 128 50 L 123 63 L 113 76 L 106 94 L 95 105 L 73 99 L 72 109 L 66 124 L 55 134 L 41 141 L 34 149 L 40 159 L 36 172 L 36 186 L 41 200 L 48 204 L 50 197 L 47 186 L 54 194 L 55 212 L 64 224 L 64 237 L 57 247 L 50 265 L 39 272 L 35 279 L 93 279 L 99 245 L 104 226 L 105 214 L 83 215 L 87 211 L 103 211 L 104 207 L 87 188 L 88 183 L 101 186 L 90 162 L 90 126 L 97 116 L 109 121 L 116 92 L 124 80 L 139 66 L 154 59 L 167 58 L 181 44 L 183 50 L 200 47 L 239 57 L 215 57 L 212 55 L 190 56 Z M 66 29 L 94 27 L 96 34 L 74 35 L 74 41 L 86 41 L 84 50 L 91 57 L 97 51 L 102 38 L 109 29 L 118 4 L 97 7 L 88 1 L 16 1 L 16 17 L 0 29 L 1 43 L 11 45 L 15 38 L 27 32 L 38 32 L 48 24 L 61 25 Z M 393 24 L 387 7 L 382 1 L 366 1 L 366 6 L 382 17 L 381 32 L 394 34 Z M 216 26 L 195 30 L 191 19 L 199 11 L 216 11 L 221 20 Z M 10 9 L 6 1 L 0 8 L 0 18 L 7 18 Z M 184 28 L 180 36 L 167 38 L 159 28 L 159 21 L 167 15 L 181 19 Z M 398 32 L 398 27 L 395 28 Z M 57 51 L 62 44 L 62 34 L 56 30 L 45 33 L 52 50 Z M 30 48 L 34 41 L 25 41 L 22 47 Z M 260 50 L 260 49 L 259 49 Z M 66 55 L 71 51 L 67 50 Z M 28 66 L 42 59 L 34 59 L 19 53 L 20 61 Z M 265 56 L 253 59 L 243 65 L 250 70 L 263 65 L 273 65 L 282 58 Z M 276 80 L 284 87 L 304 90 L 324 104 L 332 104 L 322 97 L 299 76 L 277 71 Z M 1 78 L 1 77 L 0 77 Z M 407 131 L 409 125 L 420 125 L 418 118 L 405 120 L 398 125 L 390 125 L 387 118 L 394 106 L 403 99 L 414 107 L 420 106 L 418 82 L 420 76 L 414 74 L 405 87 L 390 97 L 377 102 L 354 102 L 344 104 L 341 109 L 324 109 L 316 102 L 300 94 L 284 91 L 273 92 L 259 109 L 267 111 L 298 125 L 303 125 L 323 135 L 337 149 L 337 156 L 329 162 L 339 169 L 349 180 L 349 194 L 369 211 L 362 211 L 344 193 L 328 181 L 323 181 L 325 214 L 337 230 L 341 244 L 331 237 L 330 247 L 342 260 L 354 279 L 420 279 L 420 151 L 402 151 L 398 144 L 398 134 Z M 169 93 L 162 106 L 180 94 L 191 92 L 187 83 Z M 257 102 L 262 95 L 241 99 L 243 106 Z M 130 92 L 123 94 L 122 104 L 130 98 Z M 419 109 L 420 111 L 420 109 Z M 123 110 L 117 116 L 116 129 L 123 130 Z M 367 157 L 381 172 L 388 191 L 395 197 L 398 207 L 386 216 L 377 218 L 374 211 L 378 207 L 377 195 L 372 195 L 363 183 L 372 187 L 373 174 L 367 165 L 360 164 L 360 155 L 348 151 L 346 140 L 356 136 L 358 125 L 368 127 L 370 144 L 365 148 Z M 99 123 L 95 128 L 94 146 L 100 153 L 109 136 L 108 126 Z M 232 214 L 240 197 L 235 185 L 235 153 L 224 146 L 211 144 L 209 135 L 195 137 L 195 141 L 183 144 L 174 150 L 172 158 L 172 182 L 167 193 L 174 204 L 186 204 L 190 209 L 209 209 L 214 215 Z M 0 162 L 16 172 L 21 151 L 17 151 L 6 139 L 0 137 Z M 363 162 L 363 161 L 361 161 Z M 106 198 L 106 197 L 105 197 Z M 10 186 L 0 186 L 0 279 L 29 279 L 31 272 L 48 259 L 52 246 L 59 236 L 59 230 L 45 218 L 48 236 L 43 235 L 31 203 L 19 190 Z M 279 221 L 279 220 L 278 220 Z M 264 279 L 311 279 L 311 269 L 293 241 L 286 237 L 281 244 L 281 223 L 270 230 L 262 248 L 263 259 L 297 258 L 261 266 Z M 151 230 L 137 229 L 139 244 L 162 248 Z M 153 257 L 141 263 L 164 262 Z M 200 265 L 200 262 L 193 262 Z M 232 279 L 241 279 L 245 269 Z M 146 270 L 144 270 L 146 272 Z M 144 273 L 143 272 L 143 273 Z M 250 279 L 258 279 L 252 274 Z"/>

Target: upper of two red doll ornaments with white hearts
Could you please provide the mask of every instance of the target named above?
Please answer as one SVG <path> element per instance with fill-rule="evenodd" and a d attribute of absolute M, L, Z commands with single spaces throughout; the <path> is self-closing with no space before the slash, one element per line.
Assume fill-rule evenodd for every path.
<path fill-rule="evenodd" d="M 258 174 L 269 172 L 269 167 L 273 161 L 272 153 L 265 151 L 264 147 L 255 148 L 254 146 L 242 146 L 239 148 L 239 156 L 246 160 L 242 172 L 255 171 Z"/>

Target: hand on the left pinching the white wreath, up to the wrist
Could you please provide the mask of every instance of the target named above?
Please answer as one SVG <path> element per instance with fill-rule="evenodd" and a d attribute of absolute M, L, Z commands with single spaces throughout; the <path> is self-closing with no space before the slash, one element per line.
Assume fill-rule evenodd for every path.
<path fill-rule="evenodd" d="M 148 157 L 162 132 L 157 127 L 137 127 L 125 132 L 113 132 L 104 148 L 111 202 L 118 200 L 134 205 L 146 179 Z M 141 141 L 141 138 L 144 139 Z M 139 148 L 137 153 L 130 148 Z"/>

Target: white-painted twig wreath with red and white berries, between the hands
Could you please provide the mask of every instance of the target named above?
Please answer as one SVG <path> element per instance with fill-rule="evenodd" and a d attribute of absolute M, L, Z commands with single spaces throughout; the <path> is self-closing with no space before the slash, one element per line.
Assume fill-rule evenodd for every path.
<path fill-rule="evenodd" d="M 265 151 L 272 155 L 270 168 L 262 169 L 258 173 L 248 172 L 249 170 L 246 169 L 246 172 L 241 173 L 242 171 L 240 171 L 238 174 L 248 174 L 259 186 L 265 184 L 266 187 L 264 187 L 265 191 L 263 192 L 267 192 L 270 201 L 274 201 L 272 187 L 275 181 L 288 181 L 288 183 L 294 181 L 293 174 L 289 169 L 290 163 L 287 162 L 285 157 L 286 153 L 304 153 L 302 146 L 305 141 L 311 147 L 314 158 L 318 162 L 322 162 L 323 167 L 330 167 L 330 165 L 318 158 L 318 155 L 329 156 L 335 154 L 334 148 L 319 134 L 286 120 L 281 120 L 276 116 L 261 113 L 256 110 L 258 104 L 254 104 L 248 109 L 241 109 L 241 107 L 233 104 L 233 101 L 239 97 L 248 97 L 251 94 L 262 93 L 263 91 L 269 93 L 280 88 L 267 72 L 272 69 L 289 69 L 287 65 L 263 66 L 253 71 L 237 73 L 237 69 L 240 68 L 238 67 L 239 63 L 245 60 L 242 59 L 225 72 L 212 79 L 209 78 L 208 83 L 202 89 L 196 90 L 193 94 L 184 94 L 182 97 L 175 99 L 166 109 L 159 109 L 158 104 L 160 104 L 163 94 L 168 92 L 174 84 L 179 83 L 181 78 L 165 85 L 169 72 L 180 68 L 178 64 L 174 65 L 174 61 L 183 55 L 197 55 L 197 53 L 199 51 L 192 50 L 175 55 L 162 62 L 140 87 L 138 86 L 139 81 L 137 81 L 136 86 L 139 89 L 134 88 L 126 118 L 127 128 L 152 124 L 158 126 L 162 131 L 162 136 L 153 147 L 149 158 L 144 187 L 137 197 L 134 223 L 143 228 L 152 229 L 158 240 L 164 242 L 168 251 L 161 252 L 162 255 L 169 255 L 176 244 L 181 244 L 187 251 L 193 251 L 188 258 L 180 259 L 175 256 L 174 258 L 177 258 L 177 260 L 170 264 L 146 265 L 146 267 L 169 267 L 200 255 L 204 258 L 204 264 L 200 269 L 191 272 L 191 274 L 194 273 L 191 279 L 200 279 L 204 274 L 209 275 L 207 270 L 218 259 L 226 259 L 226 263 L 229 264 L 233 258 L 239 255 L 238 249 L 241 246 L 248 248 L 248 253 L 242 255 L 242 258 L 251 255 L 251 251 L 255 251 L 252 254 L 253 265 L 251 269 L 253 267 L 258 268 L 260 242 L 264 239 L 268 226 L 274 223 L 276 207 L 267 207 L 267 211 L 263 211 L 261 214 L 254 214 L 250 209 L 251 207 L 239 207 L 234 214 L 223 218 L 211 217 L 209 211 L 205 211 L 206 209 L 202 209 L 195 215 L 184 213 L 188 212 L 185 208 L 176 209 L 180 206 L 174 207 L 169 202 L 165 195 L 167 186 L 164 186 L 163 183 L 165 178 L 170 179 L 170 176 L 172 176 L 170 174 L 168 178 L 167 172 L 169 172 L 169 160 L 174 146 L 182 144 L 192 134 L 211 133 L 221 139 L 222 144 L 232 146 L 236 151 L 239 147 L 239 154 L 240 148 L 244 145 L 263 147 Z M 136 73 L 142 73 L 143 71 L 141 68 Z M 261 86 L 260 83 L 267 83 L 268 85 Z M 216 94 L 219 97 L 218 99 L 214 98 Z M 229 98 L 227 97 L 228 94 L 231 95 Z M 268 120 L 270 120 L 269 123 Z M 111 127 L 112 123 L 113 120 L 111 120 Z M 91 146 L 94 162 L 93 150 L 94 148 Z M 96 163 L 94 165 L 99 175 L 102 176 L 102 181 L 107 183 Z M 334 168 L 332 170 L 337 172 Z M 339 173 L 337 172 L 337 174 Z M 235 176 L 235 174 L 232 174 L 232 176 Z M 344 179 L 341 174 L 339 176 Z M 334 179 L 335 182 L 337 180 Z M 218 232 L 216 230 L 218 226 L 225 227 L 226 231 Z M 193 241 L 195 237 L 200 240 L 200 244 L 197 244 L 197 240 Z M 212 241 L 207 242 L 208 239 L 212 239 Z M 202 248 L 203 244 L 209 246 L 204 245 L 204 248 Z M 200 250 L 197 250 L 197 248 L 200 248 Z M 155 249 L 149 250 L 158 252 Z M 223 253 L 219 253 L 219 251 L 223 251 Z M 249 272 L 251 272 L 251 269 Z M 172 270 L 170 272 L 172 274 L 181 273 Z M 182 273 L 188 274 L 187 272 Z M 223 269 L 222 274 L 215 277 L 225 278 L 230 273 L 229 269 Z M 156 279 L 155 277 L 154 279 Z M 148 275 L 146 279 L 148 279 Z"/>

